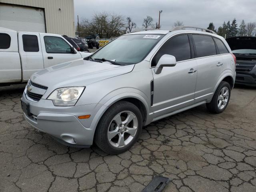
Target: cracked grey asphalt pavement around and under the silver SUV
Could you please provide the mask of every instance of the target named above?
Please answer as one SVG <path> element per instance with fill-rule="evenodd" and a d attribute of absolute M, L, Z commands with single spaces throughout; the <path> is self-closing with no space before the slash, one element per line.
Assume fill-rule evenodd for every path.
<path fill-rule="evenodd" d="M 199 106 L 154 122 L 113 156 L 32 128 L 24 86 L 0 88 L 1 192 L 140 192 L 156 175 L 170 178 L 165 192 L 256 192 L 256 88 L 234 88 L 222 114 Z"/>

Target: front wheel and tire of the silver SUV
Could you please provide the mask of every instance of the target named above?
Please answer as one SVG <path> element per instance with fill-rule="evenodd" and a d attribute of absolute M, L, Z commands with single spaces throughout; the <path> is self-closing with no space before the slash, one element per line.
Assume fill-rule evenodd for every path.
<path fill-rule="evenodd" d="M 126 121 L 129 123 L 125 124 Z M 123 153 L 138 140 L 142 122 L 142 114 L 137 106 L 126 101 L 116 102 L 98 122 L 94 142 L 108 154 Z"/>

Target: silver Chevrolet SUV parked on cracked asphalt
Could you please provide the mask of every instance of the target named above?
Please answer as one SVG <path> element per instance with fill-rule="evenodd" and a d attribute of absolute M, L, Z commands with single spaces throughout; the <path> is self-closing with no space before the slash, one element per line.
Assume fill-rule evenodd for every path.
<path fill-rule="evenodd" d="M 59 142 L 109 154 L 128 150 L 143 126 L 230 100 L 236 58 L 221 36 L 197 30 L 124 34 L 91 56 L 33 74 L 21 98 L 26 120 Z"/>

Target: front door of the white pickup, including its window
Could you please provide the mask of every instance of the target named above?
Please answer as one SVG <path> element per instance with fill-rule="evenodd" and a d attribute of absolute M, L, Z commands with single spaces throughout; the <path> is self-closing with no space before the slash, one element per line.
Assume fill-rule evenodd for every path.
<path fill-rule="evenodd" d="M 72 53 L 72 46 L 60 35 L 40 34 L 40 38 L 44 68 L 82 58 L 76 50 Z"/>

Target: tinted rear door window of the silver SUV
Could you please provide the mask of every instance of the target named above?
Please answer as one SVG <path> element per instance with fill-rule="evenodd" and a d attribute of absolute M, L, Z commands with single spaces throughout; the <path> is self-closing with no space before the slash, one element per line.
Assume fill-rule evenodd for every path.
<path fill-rule="evenodd" d="M 205 57 L 217 54 L 215 43 L 211 36 L 193 35 L 193 38 L 196 47 L 196 57 Z"/>

